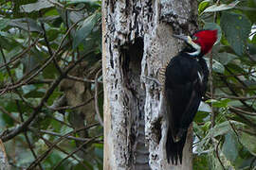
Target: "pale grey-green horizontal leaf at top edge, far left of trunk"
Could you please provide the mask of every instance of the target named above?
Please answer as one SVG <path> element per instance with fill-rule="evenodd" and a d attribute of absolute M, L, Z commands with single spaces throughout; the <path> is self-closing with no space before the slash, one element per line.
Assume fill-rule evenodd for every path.
<path fill-rule="evenodd" d="M 30 13 L 33 11 L 39 11 L 43 8 L 51 8 L 51 7 L 54 7 L 54 5 L 50 2 L 48 2 L 47 0 L 38 0 L 38 2 L 36 2 L 36 3 L 21 6 L 20 10 Z"/>

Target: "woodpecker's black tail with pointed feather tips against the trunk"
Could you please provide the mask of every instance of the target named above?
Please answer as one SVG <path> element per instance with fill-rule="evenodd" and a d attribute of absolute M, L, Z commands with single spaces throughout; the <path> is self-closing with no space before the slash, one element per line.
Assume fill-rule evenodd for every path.
<path fill-rule="evenodd" d="M 174 142 L 172 130 L 169 127 L 167 132 L 167 140 L 166 140 L 166 156 L 167 161 L 170 163 L 170 159 L 173 164 L 177 164 L 179 160 L 180 164 L 182 163 L 182 151 L 184 144 L 186 143 L 188 131 L 186 130 L 178 142 Z"/>

